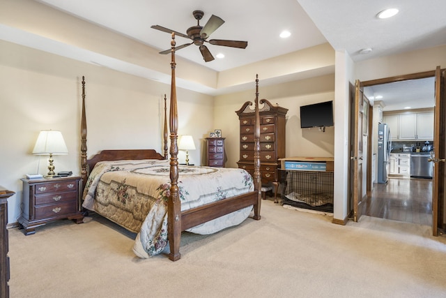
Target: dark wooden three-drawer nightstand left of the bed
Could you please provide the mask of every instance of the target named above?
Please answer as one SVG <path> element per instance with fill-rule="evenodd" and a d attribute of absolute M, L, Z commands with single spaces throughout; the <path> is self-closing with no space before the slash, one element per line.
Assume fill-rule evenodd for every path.
<path fill-rule="evenodd" d="M 68 218 L 83 223 L 80 208 L 81 177 L 22 179 L 23 213 L 19 219 L 24 234 L 34 234 L 36 227 Z"/>

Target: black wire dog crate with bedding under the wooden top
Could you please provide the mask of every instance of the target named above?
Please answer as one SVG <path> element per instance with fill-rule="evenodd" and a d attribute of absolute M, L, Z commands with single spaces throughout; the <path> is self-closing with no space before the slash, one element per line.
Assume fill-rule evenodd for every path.
<path fill-rule="evenodd" d="M 333 212 L 333 172 L 286 171 L 283 204 Z"/>

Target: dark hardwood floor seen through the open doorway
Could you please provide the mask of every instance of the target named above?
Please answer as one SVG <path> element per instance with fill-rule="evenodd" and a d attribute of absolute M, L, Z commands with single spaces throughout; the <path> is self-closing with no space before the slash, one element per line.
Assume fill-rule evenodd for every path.
<path fill-rule="evenodd" d="M 432 180 L 390 178 L 374 184 L 364 215 L 432 225 Z"/>

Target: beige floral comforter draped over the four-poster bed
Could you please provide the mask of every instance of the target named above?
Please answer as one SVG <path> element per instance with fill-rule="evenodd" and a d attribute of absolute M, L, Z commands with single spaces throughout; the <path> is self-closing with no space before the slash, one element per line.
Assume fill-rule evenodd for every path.
<path fill-rule="evenodd" d="M 169 161 L 98 163 L 86 182 L 82 205 L 137 232 L 134 253 L 140 258 L 151 257 L 167 246 L 169 172 Z M 180 165 L 178 188 L 181 210 L 187 210 L 253 191 L 254 184 L 249 173 L 242 169 Z M 188 231 L 210 234 L 238 225 L 251 209 L 241 209 Z"/>

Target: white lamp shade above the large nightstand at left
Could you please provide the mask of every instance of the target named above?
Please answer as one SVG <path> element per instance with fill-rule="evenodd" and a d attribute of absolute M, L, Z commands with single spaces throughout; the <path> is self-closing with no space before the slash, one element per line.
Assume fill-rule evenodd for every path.
<path fill-rule="evenodd" d="M 67 145 L 60 131 L 40 131 L 33 154 L 68 154 Z"/>

